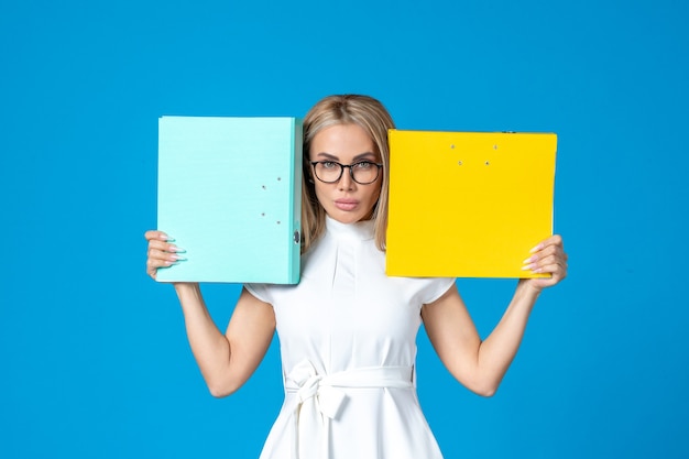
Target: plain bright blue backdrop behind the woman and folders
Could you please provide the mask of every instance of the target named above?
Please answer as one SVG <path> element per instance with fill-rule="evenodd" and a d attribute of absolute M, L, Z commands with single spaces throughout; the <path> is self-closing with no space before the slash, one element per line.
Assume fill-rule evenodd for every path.
<path fill-rule="evenodd" d="M 688 18 L 679 0 L 3 0 L 0 457 L 258 456 L 276 342 L 212 398 L 173 289 L 144 274 L 157 118 L 303 116 L 337 92 L 403 129 L 559 135 L 570 273 L 495 397 L 419 335 L 446 457 L 688 457 Z M 459 287 L 485 335 L 514 281 Z M 223 328 L 237 287 L 205 293 Z"/>

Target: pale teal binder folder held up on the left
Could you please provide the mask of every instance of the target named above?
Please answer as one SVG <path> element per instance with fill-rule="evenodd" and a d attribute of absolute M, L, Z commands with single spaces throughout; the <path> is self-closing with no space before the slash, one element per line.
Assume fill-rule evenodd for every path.
<path fill-rule="evenodd" d="M 299 119 L 160 118 L 157 190 L 187 259 L 158 282 L 299 282 Z"/>

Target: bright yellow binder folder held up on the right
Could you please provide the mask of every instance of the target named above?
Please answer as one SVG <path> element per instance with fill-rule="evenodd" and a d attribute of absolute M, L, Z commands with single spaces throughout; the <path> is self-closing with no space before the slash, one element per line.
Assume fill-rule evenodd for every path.
<path fill-rule="evenodd" d="M 522 266 L 553 233 L 556 134 L 389 134 L 387 275 L 544 276 Z"/>

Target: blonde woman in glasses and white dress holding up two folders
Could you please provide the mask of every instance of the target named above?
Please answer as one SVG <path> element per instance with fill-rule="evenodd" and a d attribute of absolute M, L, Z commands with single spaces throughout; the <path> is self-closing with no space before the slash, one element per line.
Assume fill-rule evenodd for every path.
<path fill-rule="evenodd" d="M 414 385 L 416 334 L 450 373 L 495 393 L 540 292 L 567 273 L 562 240 L 540 242 L 502 319 L 481 340 L 452 278 L 387 277 L 385 108 L 331 96 L 304 120 L 303 272 L 298 285 L 245 285 L 225 335 L 199 286 L 177 283 L 188 339 L 215 396 L 237 391 L 280 336 L 285 402 L 263 449 L 276 458 L 441 458 Z M 178 263 L 178 249 L 147 231 L 147 273 Z"/>

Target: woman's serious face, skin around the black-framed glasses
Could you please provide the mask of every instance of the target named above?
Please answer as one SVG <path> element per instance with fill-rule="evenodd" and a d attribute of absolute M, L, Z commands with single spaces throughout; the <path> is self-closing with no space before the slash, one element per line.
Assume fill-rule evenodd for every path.
<path fill-rule="evenodd" d="M 361 161 L 380 163 L 373 140 L 358 124 L 336 124 L 321 130 L 311 141 L 309 156 L 310 161 L 331 161 L 344 165 Z M 368 185 L 352 181 L 349 167 L 343 170 L 338 182 L 331 184 L 319 181 L 313 166 L 310 171 L 318 201 L 330 218 L 342 223 L 371 218 L 381 195 L 382 171 L 375 182 Z"/>

